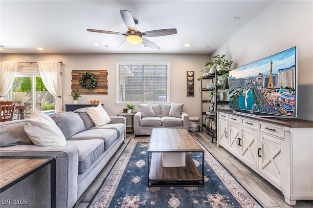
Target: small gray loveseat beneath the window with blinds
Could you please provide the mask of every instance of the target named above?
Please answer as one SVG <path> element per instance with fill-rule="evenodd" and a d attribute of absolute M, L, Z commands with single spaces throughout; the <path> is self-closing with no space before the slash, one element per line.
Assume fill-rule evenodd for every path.
<path fill-rule="evenodd" d="M 134 115 L 134 134 L 151 135 L 152 128 L 185 128 L 188 131 L 188 114 L 183 104 L 139 104 Z"/>

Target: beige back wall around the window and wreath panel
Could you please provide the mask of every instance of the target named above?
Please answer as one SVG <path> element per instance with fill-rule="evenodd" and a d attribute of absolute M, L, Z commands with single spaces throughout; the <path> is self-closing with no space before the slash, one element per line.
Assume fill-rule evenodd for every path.
<path fill-rule="evenodd" d="M 64 104 L 72 104 L 69 96 L 71 92 L 71 70 L 108 70 L 108 95 L 82 95 L 79 104 L 89 104 L 90 100 L 99 100 L 105 104 L 109 115 L 113 116 L 125 106 L 115 104 L 116 62 L 169 62 L 170 63 L 170 101 L 183 103 L 183 110 L 190 116 L 201 115 L 200 82 L 195 82 L 195 97 L 187 97 L 186 72 L 195 71 L 195 79 L 205 70 L 208 55 L 171 55 L 171 54 L 1 54 L 1 61 L 37 62 L 59 61 L 63 62 L 62 92 L 66 96 Z M 18 71 L 37 71 L 37 64 L 23 63 Z M 137 111 L 137 107 L 134 109 Z"/>

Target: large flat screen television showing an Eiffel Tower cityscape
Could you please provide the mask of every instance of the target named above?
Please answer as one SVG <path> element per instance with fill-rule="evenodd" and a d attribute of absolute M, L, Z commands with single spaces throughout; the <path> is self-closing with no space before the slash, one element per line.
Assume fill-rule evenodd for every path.
<path fill-rule="evenodd" d="M 267 117 L 297 116 L 297 47 L 229 72 L 229 108 Z"/>

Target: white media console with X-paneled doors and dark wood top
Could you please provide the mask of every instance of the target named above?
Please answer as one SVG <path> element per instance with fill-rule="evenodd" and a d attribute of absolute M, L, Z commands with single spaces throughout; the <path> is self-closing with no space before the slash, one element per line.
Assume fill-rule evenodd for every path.
<path fill-rule="evenodd" d="M 217 143 L 284 194 L 313 200 L 313 122 L 217 112 Z"/>

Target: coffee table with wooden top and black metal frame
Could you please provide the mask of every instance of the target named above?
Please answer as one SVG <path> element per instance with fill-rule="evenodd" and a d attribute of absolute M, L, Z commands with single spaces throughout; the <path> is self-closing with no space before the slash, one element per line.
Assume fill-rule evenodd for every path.
<path fill-rule="evenodd" d="M 163 167 L 162 153 L 186 154 L 185 166 Z M 202 154 L 202 175 L 189 152 Z M 149 157 L 151 155 L 151 161 Z M 148 148 L 148 186 L 203 186 L 204 150 L 186 129 L 153 128 Z"/>

